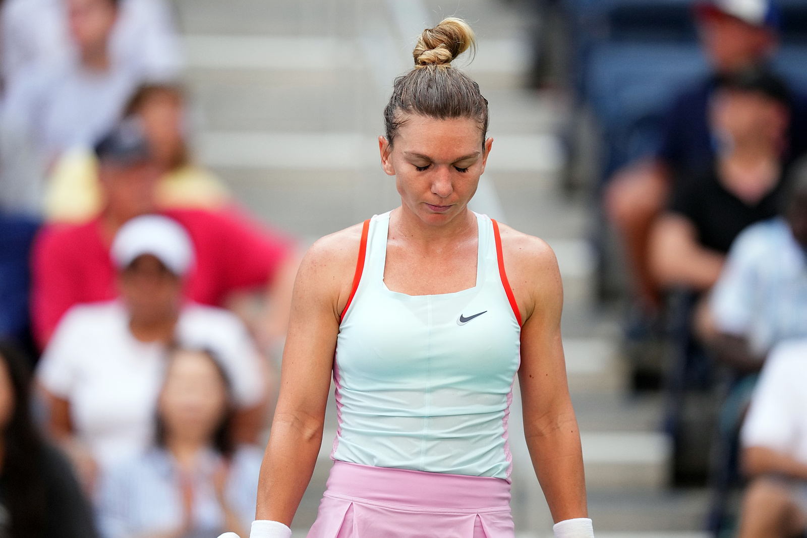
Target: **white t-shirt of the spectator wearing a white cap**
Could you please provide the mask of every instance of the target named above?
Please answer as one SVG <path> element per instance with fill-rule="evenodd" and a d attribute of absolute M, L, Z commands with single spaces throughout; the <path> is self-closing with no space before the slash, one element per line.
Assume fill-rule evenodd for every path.
<path fill-rule="evenodd" d="M 182 310 L 176 332 L 181 346 L 209 349 L 221 361 L 237 405 L 260 402 L 261 359 L 235 315 L 191 304 Z M 68 311 L 37 369 L 47 390 L 69 400 L 73 427 L 102 468 L 150 444 L 164 373 L 165 348 L 136 340 L 117 301 Z"/>

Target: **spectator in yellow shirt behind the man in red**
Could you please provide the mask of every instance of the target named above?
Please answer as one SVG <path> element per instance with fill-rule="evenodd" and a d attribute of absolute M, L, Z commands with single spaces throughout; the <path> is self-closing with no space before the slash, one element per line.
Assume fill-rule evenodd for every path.
<path fill-rule="evenodd" d="M 218 178 L 190 160 L 185 108 L 185 94 L 178 85 L 146 84 L 132 96 L 124 115 L 140 120 L 154 160 L 166 171 L 157 183 L 157 207 L 220 210 L 231 197 Z M 62 156 L 48 182 L 45 218 L 86 222 L 98 215 L 101 206 L 98 163 L 92 152 Z"/>

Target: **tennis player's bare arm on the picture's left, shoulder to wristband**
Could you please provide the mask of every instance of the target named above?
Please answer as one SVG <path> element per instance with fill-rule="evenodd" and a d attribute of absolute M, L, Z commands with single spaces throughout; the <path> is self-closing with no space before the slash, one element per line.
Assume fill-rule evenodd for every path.
<path fill-rule="evenodd" d="M 317 241 L 297 273 L 256 519 L 291 525 L 314 472 L 339 319 L 350 294 L 361 233 L 359 224 Z"/>

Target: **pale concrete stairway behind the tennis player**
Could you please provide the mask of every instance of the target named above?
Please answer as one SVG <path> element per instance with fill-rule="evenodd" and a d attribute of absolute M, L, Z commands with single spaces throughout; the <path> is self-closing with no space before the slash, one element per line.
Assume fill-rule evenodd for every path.
<path fill-rule="evenodd" d="M 310 240 L 399 203 L 378 165 L 376 137 L 393 78 L 411 64 L 425 24 L 458 15 L 479 37 L 470 74 L 491 106 L 494 137 L 477 211 L 504 211 L 512 226 L 554 248 L 566 290 L 569 383 L 583 432 L 589 507 L 598 536 L 692 538 L 702 491 L 671 491 L 670 443 L 657 430 L 658 398 L 625 393 L 613 316 L 592 306 L 587 208 L 557 187 L 564 161 L 555 133 L 562 98 L 521 90 L 529 60 L 525 17 L 504 0 L 174 0 L 185 37 L 187 82 L 201 161 L 241 202 Z M 459 62 L 462 65 L 462 62 Z M 513 408 L 513 515 L 521 538 L 549 536 L 551 516 Z M 316 517 L 336 430 L 295 518 L 295 537 Z M 518 441 L 520 440 L 520 441 Z"/>

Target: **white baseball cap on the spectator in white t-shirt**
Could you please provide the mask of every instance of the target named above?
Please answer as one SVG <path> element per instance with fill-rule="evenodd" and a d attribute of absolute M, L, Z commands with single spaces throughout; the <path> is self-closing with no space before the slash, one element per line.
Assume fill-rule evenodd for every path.
<path fill-rule="evenodd" d="M 112 241 L 112 261 L 127 268 L 137 256 L 151 254 L 178 277 L 185 276 L 194 261 L 194 247 L 188 232 L 174 219 L 162 215 L 141 215 L 120 227 Z"/>

